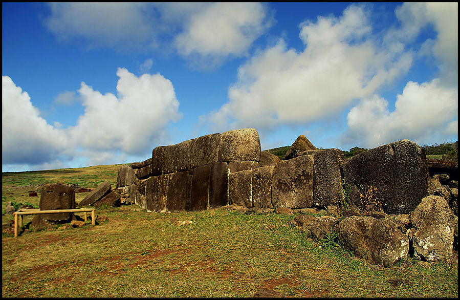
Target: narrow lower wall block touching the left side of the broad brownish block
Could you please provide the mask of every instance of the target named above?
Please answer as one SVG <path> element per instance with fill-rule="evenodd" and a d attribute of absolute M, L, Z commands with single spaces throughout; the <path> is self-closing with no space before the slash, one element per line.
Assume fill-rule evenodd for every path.
<path fill-rule="evenodd" d="M 272 179 L 274 165 L 252 170 L 252 203 L 254 207 L 272 208 Z"/>

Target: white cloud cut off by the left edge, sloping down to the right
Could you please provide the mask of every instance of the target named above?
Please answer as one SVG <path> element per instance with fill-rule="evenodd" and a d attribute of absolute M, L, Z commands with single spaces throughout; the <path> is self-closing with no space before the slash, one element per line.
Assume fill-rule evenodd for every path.
<path fill-rule="evenodd" d="M 2 76 L 2 159 L 4 164 L 40 164 L 65 154 L 64 132 L 48 124 L 30 96 Z"/>

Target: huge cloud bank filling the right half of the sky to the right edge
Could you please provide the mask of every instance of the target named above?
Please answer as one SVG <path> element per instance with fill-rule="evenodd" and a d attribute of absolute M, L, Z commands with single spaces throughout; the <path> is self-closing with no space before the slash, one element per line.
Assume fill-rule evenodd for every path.
<path fill-rule="evenodd" d="M 457 122 L 456 4 L 411 3 L 396 13 L 402 26 L 379 36 L 373 35 L 363 5 L 349 6 L 340 17 L 300 24 L 303 51 L 288 49 L 281 39 L 257 53 L 239 67 L 238 81 L 228 90 L 229 101 L 202 116 L 202 122 L 213 124 L 216 131 L 270 131 L 327 120 L 360 99 L 348 114 L 349 128 L 337 139 L 338 146 L 374 147 L 403 138 L 428 141 L 428 136 L 452 134 Z M 429 24 L 438 36 L 427 40 L 422 50 L 439 61 L 440 78 L 408 82 L 396 110 L 389 112 L 388 101 L 378 93 L 406 75 L 420 57 L 421 49 L 411 49 L 409 43 Z M 455 80 L 448 80 L 453 74 Z"/>

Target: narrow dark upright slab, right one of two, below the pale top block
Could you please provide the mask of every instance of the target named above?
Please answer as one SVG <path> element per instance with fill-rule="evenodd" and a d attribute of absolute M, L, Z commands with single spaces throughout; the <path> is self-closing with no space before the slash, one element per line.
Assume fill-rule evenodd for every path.
<path fill-rule="evenodd" d="M 211 164 L 209 183 L 209 208 L 228 204 L 228 165 L 226 162 Z"/>

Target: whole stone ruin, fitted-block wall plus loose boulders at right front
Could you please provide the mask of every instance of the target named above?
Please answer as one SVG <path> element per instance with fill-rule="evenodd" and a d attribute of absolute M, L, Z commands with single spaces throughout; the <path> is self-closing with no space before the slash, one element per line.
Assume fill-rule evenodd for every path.
<path fill-rule="evenodd" d="M 430 262 L 452 253 L 457 186 L 441 185 L 440 176 L 430 178 L 423 148 L 409 140 L 345 159 L 299 136 L 280 160 L 261 152 L 257 131 L 246 128 L 156 147 L 147 160 L 119 168 L 117 189 L 150 212 L 326 209 L 329 216 L 298 215 L 291 225 L 315 240 L 336 233 L 346 248 L 391 266 L 409 252 Z M 366 211 L 378 204 L 376 211 L 334 217 L 344 191 L 349 203 Z"/>

